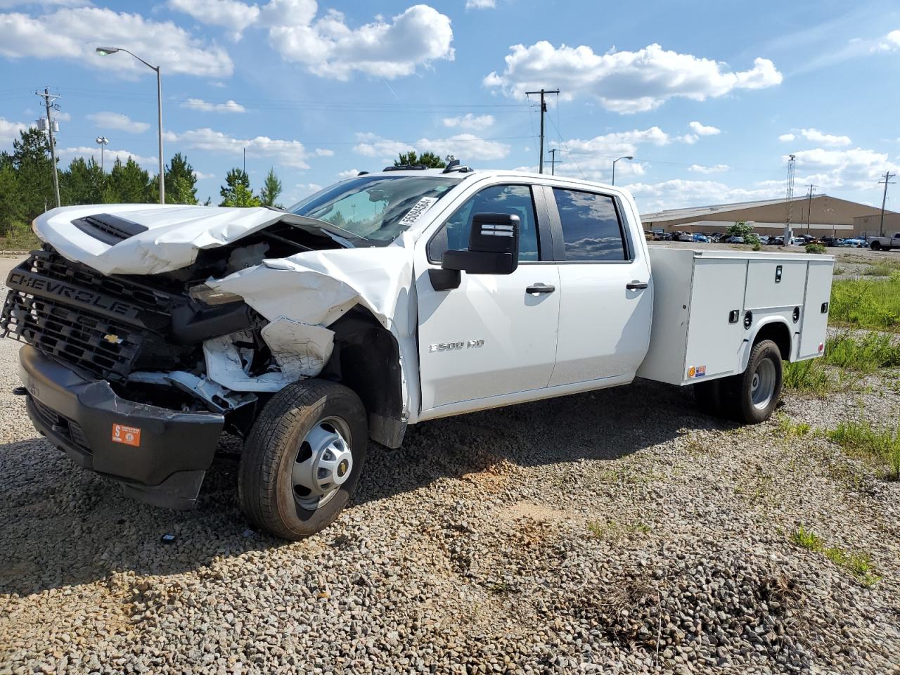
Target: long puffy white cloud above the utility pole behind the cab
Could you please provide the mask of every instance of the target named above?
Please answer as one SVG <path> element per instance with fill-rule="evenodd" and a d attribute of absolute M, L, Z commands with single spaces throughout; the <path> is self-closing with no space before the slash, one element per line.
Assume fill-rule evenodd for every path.
<path fill-rule="evenodd" d="M 768 58 L 755 58 L 751 69 L 734 72 L 719 61 L 667 51 L 658 44 L 606 54 L 586 45 L 556 48 L 545 40 L 510 49 L 506 68 L 500 74 L 491 72 L 484 85 L 524 98 L 527 91 L 553 83 L 563 99 L 593 95 L 613 112 L 649 111 L 673 97 L 703 101 L 782 80 Z"/>

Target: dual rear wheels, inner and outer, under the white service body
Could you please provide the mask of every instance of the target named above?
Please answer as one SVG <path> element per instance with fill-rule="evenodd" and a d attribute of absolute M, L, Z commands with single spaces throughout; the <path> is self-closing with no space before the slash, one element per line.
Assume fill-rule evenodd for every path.
<path fill-rule="evenodd" d="M 744 424 L 771 417 L 781 397 L 781 350 L 772 340 L 753 346 L 747 369 L 741 373 L 694 385 L 701 410 Z"/>

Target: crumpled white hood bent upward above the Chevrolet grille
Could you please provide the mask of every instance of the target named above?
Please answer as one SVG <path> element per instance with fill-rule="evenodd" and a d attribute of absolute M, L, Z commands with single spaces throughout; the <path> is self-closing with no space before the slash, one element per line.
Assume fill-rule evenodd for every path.
<path fill-rule="evenodd" d="M 131 220 L 147 230 L 111 246 L 72 224 L 100 213 Z M 89 204 L 47 211 L 34 220 L 34 231 L 63 257 L 104 275 L 156 275 L 193 265 L 202 248 L 224 246 L 279 220 L 319 224 L 264 207 Z"/>

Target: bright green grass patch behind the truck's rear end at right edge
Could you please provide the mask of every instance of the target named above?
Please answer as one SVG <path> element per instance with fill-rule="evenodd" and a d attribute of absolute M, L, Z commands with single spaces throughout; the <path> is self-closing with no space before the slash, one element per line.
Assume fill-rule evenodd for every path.
<path fill-rule="evenodd" d="M 885 279 L 837 279 L 830 320 L 860 329 L 900 330 L 900 272 Z"/>

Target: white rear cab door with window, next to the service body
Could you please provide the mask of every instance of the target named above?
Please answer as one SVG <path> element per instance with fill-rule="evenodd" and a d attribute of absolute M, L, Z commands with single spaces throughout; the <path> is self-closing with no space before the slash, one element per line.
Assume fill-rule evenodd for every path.
<path fill-rule="evenodd" d="M 653 296 L 644 242 L 626 202 L 581 187 L 546 187 L 560 275 L 556 364 L 549 386 L 631 379 L 650 341 Z M 629 210 L 630 211 L 630 210 Z"/>

